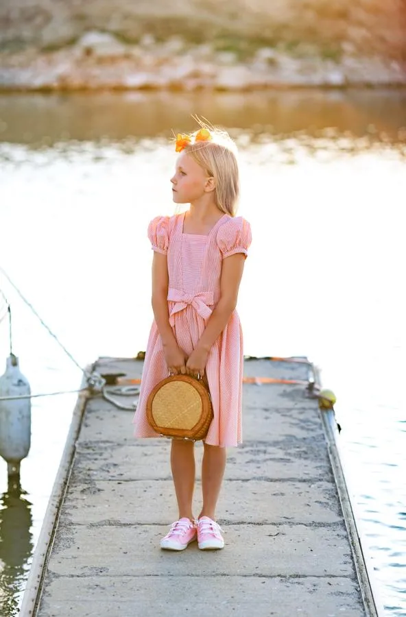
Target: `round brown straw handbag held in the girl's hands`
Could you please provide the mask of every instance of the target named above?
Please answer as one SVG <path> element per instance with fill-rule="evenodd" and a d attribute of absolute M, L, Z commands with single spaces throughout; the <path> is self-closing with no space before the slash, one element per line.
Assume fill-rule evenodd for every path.
<path fill-rule="evenodd" d="M 160 381 L 147 400 L 147 420 L 160 435 L 199 441 L 213 420 L 208 387 L 189 375 L 171 375 Z"/>

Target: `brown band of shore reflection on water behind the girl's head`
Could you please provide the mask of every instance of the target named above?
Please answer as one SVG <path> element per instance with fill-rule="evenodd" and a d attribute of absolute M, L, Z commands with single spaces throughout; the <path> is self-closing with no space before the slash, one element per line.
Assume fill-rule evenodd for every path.
<path fill-rule="evenodd" d="M 193 130 L 191 114 L 252 134 L 287 135 L 326 128 L 355 137 L 406 141 L 406 91 L 287 90 L 266 93 L 75 93 L 0 96 L 0 140 L 118 141 Z"/>

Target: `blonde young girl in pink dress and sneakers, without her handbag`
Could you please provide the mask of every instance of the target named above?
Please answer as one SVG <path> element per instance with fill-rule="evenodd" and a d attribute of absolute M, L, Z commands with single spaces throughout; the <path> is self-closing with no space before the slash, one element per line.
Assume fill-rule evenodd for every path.
<path fill-rule="evenodd" d="M 176 204 L 186 213 L 156 217 L 148 227 L 154 250 L 154 323 L 145 353 L 136 437 L 158 437 L 147 423 L 146 402 L 154 386 L 173 374 L 204 376 L 214 419 L 204 440 L 202 510 L 192 512 L 195 484 L 193 441 L 172 439 L 171 472 L 179 518 L 161 548 L 182 551 L 193 540 L 200 549 L 223 548 L 215 508 L 226 465 L 226 446 L 241 443 L 243 341 L 235 306 L 250 224 L 235 217 L 239 172 L 228 134 L 206 127 L 178 135 L 176 171 L 171 178 Z"/>

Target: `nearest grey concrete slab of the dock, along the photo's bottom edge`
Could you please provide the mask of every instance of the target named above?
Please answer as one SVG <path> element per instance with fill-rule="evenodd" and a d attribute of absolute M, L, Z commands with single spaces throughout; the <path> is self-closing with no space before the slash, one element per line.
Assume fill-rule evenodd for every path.
<path fill-rule="evenodd" d="M 357 594 L 349 577 L 225 578 L 198 572 L 184 577 L 115 577 L 95 568 L 86 578 L 53 577 L 40 615 L 361 617 L 361 605 L 354 601 Z"/>

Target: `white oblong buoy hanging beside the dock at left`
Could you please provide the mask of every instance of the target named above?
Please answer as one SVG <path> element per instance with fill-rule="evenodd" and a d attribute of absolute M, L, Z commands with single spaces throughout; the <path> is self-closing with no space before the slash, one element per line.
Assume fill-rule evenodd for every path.
<path fill-rule="evenodd" d="M 10 354 L 0 377 L 0 456 L 8 463 L 8 475 L 18 476 L 20 463 L 31 446 L 31 388 Z M 25 398 L 19 398 L 25 397 Z"/>

